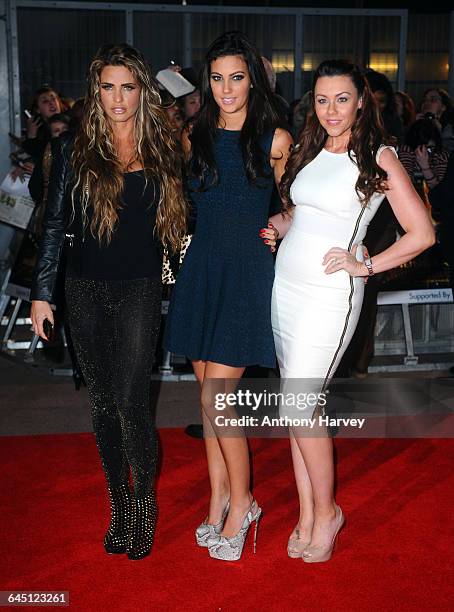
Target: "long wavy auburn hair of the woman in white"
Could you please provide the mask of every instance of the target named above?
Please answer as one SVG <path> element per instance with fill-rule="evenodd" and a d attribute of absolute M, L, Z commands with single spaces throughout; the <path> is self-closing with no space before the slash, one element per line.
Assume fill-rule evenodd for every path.
<path fill-rule="evenodd" d="M 387 174 L 378 165 L 376 154 L 382 144 L 394 144 L 394 139 L 385 133 L 378 105 L 359 68 L 346 60 L 327 60 L 315 71 L 311 108 L 280 183 L 283 210 L 288 210 L 292 206 L 290 186 L 296 175 L 320 153 L 328 138 L 315 113 L 314 99 L 315 85 L 318 79 L 324 76 L 350 77 L 359 97 L 362 98 L 362 107 L 357 111 L 357 118 L 348 142 L 348 155 L 359 170 L 355 191 L 361 204 L 367 205 L 374 193 L 383 193 L 386 189 Z"/>

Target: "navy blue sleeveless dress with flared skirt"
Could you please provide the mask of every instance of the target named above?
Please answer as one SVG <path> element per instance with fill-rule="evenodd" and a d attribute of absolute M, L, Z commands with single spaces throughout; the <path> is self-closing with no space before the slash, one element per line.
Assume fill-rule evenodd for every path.
<path fill-rule="evenodd" d="M 191 360 L 274 368 L 274 260 L 259 236 L 274 184 L 273 134 L 262 139 L 267 176 L 256 184 L 246 176 L 240 134 L 217 130 L 216 185 L 197 192 L 198 181 L 189 183 L 196 229 L 172 291 L 164 347 Z"/>

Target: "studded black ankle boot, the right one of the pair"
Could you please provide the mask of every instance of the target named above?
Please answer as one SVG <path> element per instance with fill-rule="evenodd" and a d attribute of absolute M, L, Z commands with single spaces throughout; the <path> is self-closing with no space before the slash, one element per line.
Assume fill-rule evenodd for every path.
<path fill-rule="evenodd" d="M 158 506 L 154 491 L 145 497 L 136 497 L 134 499 L 131 531 L 128 541 L 129 559 L 143 559 L 150 554 L 157 518 Z"/>

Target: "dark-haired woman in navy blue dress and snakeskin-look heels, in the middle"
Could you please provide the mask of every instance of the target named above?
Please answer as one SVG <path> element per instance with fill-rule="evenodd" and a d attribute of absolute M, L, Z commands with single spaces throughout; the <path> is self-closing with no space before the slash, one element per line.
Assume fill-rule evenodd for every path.
<path fill-rule="evenodd" d="M 200 115 L 183 138 L 197 224 L 173 290 L 165 346 L 191 359 L 201 386 L 211 500 L 196 540 L 210 556 L 234 560 L 261 510 L 250 492 L 244 435 L 215 425 L 213 380 L 233 391 L 246 366 L 275 366 L 274 262 L 263 239 L 291 137 L 278 127 L 262 60 L 243 34 L 226 33 L 211 45 L 201 77 Z"/>

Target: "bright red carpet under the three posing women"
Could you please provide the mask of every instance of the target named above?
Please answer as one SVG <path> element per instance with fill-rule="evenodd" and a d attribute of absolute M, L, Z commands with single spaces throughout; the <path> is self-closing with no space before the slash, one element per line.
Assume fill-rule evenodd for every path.
<path fill-rule="evenodd" d="M 160 433 L 160 521 L 142 561 L 103 551 L 92 435 L 2 438 L 0 590 L 70 591 L 84 612 L 453 609 L 453 441 L 336 441 L 347 525 L 332 560 L 309 565 L 286 557 L 297 519 L 288 441 L 252 440 L 257 554 L 249 534 L 241 561 L 225 563 L 194 542 L 208 499 L 202 443 Z"/>

